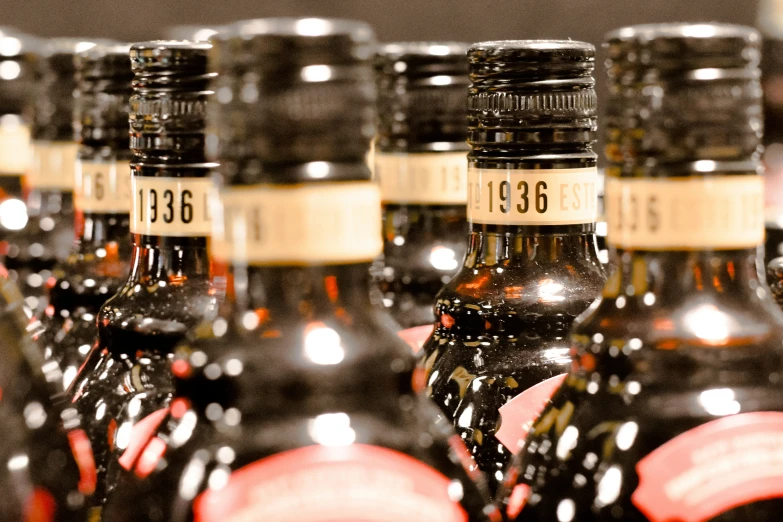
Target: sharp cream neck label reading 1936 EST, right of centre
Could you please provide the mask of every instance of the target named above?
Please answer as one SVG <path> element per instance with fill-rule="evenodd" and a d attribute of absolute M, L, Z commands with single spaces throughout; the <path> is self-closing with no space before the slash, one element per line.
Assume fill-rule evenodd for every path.
<path fill-rule="evenodd" d="M 598 217 L 598 169 L 468 169 L 468 221 L 574 225 Z"/>

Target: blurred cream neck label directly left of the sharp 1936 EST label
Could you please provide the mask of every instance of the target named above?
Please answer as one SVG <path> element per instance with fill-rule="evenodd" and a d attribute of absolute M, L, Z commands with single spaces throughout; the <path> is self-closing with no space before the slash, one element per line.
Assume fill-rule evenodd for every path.
<path fill-rule="evenodd" d="M 375 175 L 384 203 L 464 205 L 466 152 L 375 153 Z"/>

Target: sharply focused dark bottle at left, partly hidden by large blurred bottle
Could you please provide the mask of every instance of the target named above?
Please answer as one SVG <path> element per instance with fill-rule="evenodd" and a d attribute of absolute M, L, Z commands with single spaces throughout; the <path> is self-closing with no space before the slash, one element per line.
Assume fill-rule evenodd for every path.
<path fill-rule="evenodd" d="M 174 346 L 214 311 L 207 238 L 211 169 L 204 157 L 210 44 L 134 44 L 130 98 L 133 254 L 125 285 L 98 314 L 98 342 L 69 390 L 98 468 L 96 510 L 134 425 L 168 404 Z"/>

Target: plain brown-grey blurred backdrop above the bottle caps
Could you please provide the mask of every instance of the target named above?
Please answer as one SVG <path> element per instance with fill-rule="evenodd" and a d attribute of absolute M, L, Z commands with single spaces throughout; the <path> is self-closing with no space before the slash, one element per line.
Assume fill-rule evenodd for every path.
<path fill-rule="evenodd" d="M 40 36 L 140 41 L 166 26 L 268 16 L 370 22 L 381 40 L 573 38 L 600 43 L 622 25 L 754 24 L 757 0 L 2 0 L 0 25 Z"/>

